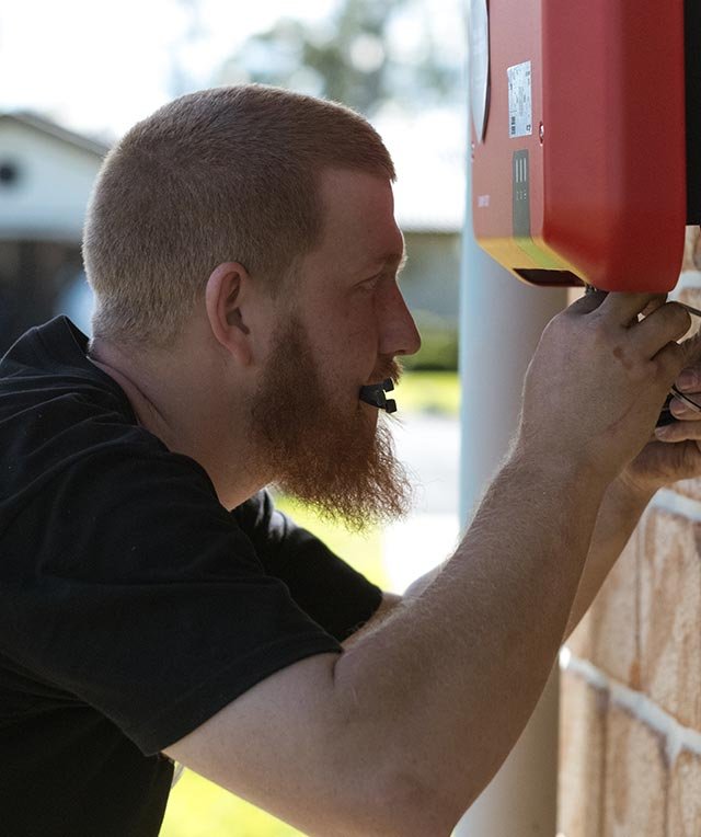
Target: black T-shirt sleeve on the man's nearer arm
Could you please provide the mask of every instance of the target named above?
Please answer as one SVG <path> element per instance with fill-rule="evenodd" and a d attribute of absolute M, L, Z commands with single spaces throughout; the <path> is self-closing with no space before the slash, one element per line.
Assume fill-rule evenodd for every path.
<path fill-rule="evenodd" d="M 205 471 L 164 449 L 102 445 L 7 535 L 22 554 L 0 562 L 0 653 L 145 755 L 274 672 L 341 651 L 265 570 Z"/>

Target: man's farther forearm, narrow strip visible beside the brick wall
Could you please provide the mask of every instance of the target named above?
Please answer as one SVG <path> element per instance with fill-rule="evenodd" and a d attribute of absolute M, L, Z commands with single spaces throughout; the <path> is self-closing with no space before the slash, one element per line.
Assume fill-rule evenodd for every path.
<path fill-rule="evenodd" d="M 582 580 L 565 629 L 565 639 L 594 601 L 616 560 L 637 526 L 654 491 L 640 491 L 618 478 L 606 491 L 597 516 Z"/>

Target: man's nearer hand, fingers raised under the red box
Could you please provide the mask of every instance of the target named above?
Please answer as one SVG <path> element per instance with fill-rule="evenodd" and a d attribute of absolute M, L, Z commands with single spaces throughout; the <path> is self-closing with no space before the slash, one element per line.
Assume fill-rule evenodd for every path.
<path fill-rule="evenodd" d="M 517 446 L 610 482 L 650 439 L 686 364 L 676 341 L 689 325 L 688 312 L 660 295 L 577 300 L 543 332 L 526 377 Z"/>

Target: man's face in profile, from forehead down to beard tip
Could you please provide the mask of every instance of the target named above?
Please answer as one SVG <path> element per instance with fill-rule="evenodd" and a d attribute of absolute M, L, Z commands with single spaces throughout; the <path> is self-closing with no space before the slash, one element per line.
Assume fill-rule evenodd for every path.
<path fill-rule="evenodd" d="M 404 242 L 390 184 L 327 172 L 321 197 L 322 241 L 281 305 L 252 424 L 284 490 L 360 527 L 397 517 L 410 496 L 387 416 L 360 387 L 397 379 L 395 355 L 420 339 L 397 286 Z"/>

